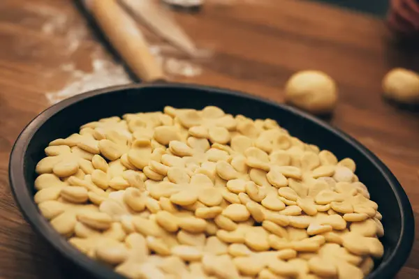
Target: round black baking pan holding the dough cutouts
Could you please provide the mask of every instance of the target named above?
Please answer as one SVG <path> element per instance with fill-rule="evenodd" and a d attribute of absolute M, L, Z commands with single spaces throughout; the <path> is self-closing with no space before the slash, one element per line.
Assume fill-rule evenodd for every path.
<path fill-rule="evenodd" d="M 383 259 L 368 278 L 393 278 L 411 251 L 413 211 L 402 186 L 374 154 L 345 133 L 300 110 L 244 93 L 186 84 L 133 84 L 83 93 L 54 105 L 24 128 L 10 155 L 10 186 L 32 227 L 61 255 L 94 278 L 122 278 L 109 267 L 82 255 L 41 216 L 34 202 L 36 163 L 54 139 L 77 133 L 87 122 L 133 112 L 161 111 L 166 105 L 202 109 L 216 105 L 230 114 L 277 120 L 291 135 L 328 149 L 337 158 L 353 158 L 356 174 L 365 183 L 383 215 Z"/>

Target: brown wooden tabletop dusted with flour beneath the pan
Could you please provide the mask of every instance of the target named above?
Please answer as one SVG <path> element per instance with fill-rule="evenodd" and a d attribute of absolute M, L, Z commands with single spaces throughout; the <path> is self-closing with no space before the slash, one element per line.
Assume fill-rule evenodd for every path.
<path fill-rule="evenodd" d="M 190 61 L 147 33 L 172 80 L 281 102 L 295 71 L 332 75 L 340 91 L 332 125 L 390 167 L 418 218 L 419 116 L 385 103 L 381 79 L 397 66 L 419 70 L 419 47 L 398 46 L 381 20 L 305 1 L 207 0 L 200 13 L 175 17 L 208 55 Z M 50 102 L 128 81 L 72 1 L 0 1 L 0 278 L 68 277 L 10 195 L 8 156 L 20 130 Z M 419 278 L 418 267 L 416 241 L 399 278 Z"/>

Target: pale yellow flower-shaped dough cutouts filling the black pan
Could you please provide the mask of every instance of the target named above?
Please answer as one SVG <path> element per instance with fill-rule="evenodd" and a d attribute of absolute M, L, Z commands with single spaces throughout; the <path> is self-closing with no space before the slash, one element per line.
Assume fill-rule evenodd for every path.
<path fill-rule="evenodd" d="M 218 107 L 126 114 L 54 140 L 35 201 L 128 278 L 363 278 L 381 214 L 350 158 Z"/>

